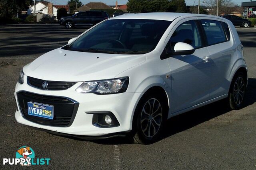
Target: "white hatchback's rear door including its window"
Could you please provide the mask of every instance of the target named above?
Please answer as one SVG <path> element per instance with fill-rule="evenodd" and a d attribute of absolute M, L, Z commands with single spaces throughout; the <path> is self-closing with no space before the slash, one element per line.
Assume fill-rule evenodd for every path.
<path fill-rule="evenodd" d="M 210 23 L 209 26 L 204 25 Z M 230 30 L 222 20 L 200 20 L 207 38 L 208 51 L 210 53 L 208 62 L 211 64 L 210 99 L 228 94 L 231 70 L 236 63 L 236 47 L 230 41 Z"/>

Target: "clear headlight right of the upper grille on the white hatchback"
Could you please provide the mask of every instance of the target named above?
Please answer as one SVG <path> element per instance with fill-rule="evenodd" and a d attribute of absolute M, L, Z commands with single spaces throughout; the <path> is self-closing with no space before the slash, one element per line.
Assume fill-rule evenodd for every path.
<path fill-rule="evenodd" d="M 83 82 L 76 91 L 80 93 L 113 94 L 126 92 L 129 84 L 128 77 L 109 80 Z"/>

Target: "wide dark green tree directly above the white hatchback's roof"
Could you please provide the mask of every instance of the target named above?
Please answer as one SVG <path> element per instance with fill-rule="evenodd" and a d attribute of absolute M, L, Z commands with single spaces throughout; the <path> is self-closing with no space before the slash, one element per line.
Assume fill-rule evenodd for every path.
<path fill-rule="evenodd" d="M 186 12 L 185 0 L 128 0 L 128 11 L 141 12 Z"/>

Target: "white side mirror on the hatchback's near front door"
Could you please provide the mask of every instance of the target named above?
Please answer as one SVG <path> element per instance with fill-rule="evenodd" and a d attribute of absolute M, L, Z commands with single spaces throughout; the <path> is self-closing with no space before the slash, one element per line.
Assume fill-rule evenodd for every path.
<path fill-rule="evenodd" d="M 172 54 L 174 55 L 190 55 L 195 52 L 194 47 L 187 43 L 178 42 L 174 45 L 174 51 Z"/>

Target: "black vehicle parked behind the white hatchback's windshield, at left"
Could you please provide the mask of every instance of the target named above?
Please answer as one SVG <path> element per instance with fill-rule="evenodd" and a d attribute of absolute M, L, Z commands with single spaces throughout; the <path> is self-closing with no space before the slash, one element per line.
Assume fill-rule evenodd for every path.
<path fill-rule="evenodd" d="M 73 16 L 62 17 L 60 18 L 59 23 L 66 28 L 73 28 L 75 26 L 93 26 L 108 18 L 108 14 L 103 11 L 84 11 L 78 12 Z"/>

